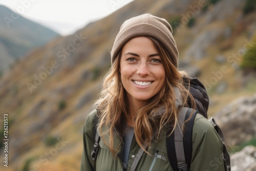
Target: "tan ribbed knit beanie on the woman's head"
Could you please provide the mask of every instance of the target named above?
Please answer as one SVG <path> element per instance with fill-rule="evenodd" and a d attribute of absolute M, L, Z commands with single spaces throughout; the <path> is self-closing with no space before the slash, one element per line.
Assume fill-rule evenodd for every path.
<path fill-rule="evenodd" d="M 164 18 L 143 14 L 127 19 L 116 36 L 112 51 L 111 63 L 116 59 L 121 48 L 135 37 L 148 36 L 160 42 L 168 52 L 170 60 L 178 68 L 179 52 L 173 37 L 173 30 Z"/>

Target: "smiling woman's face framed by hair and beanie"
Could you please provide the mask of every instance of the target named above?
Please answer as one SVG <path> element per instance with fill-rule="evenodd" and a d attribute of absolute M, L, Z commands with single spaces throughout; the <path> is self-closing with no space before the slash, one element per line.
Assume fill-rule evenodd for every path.
<path fill-rule="evenodd" d="M 161 90 L 165 70 L 150 38 L 136 37 L 123 46 L 120 73 L 130 102 L 143 102 Z"/>

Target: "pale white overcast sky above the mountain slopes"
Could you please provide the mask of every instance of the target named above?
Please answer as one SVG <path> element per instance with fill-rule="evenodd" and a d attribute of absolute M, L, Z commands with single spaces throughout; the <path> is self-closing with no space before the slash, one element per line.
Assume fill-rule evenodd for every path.
<path fill-rule="evenodd" d="M 65 36 L 103 18 L 133 0 L 0 0 L 10 8 Z"/>

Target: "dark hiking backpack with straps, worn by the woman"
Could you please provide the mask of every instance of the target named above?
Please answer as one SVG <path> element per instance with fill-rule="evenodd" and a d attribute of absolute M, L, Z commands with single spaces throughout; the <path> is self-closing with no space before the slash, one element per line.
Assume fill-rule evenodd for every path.
<path fill-rule="evenodd" d="M 185 122 L 184 124 L 184 134 L 180 129 L 178 129 L 180 126 L 176 126 L 174 133 L 171 136 L 166 136 L 166 144 L 167 144 L 167 154 L 170 164 L 172 165 L 173 169 L 175 171 L 188 171 L 190 168 L 191 163 L 191 157 L 192 157 L 192 131 L 193 131 L 193 124 L 196 115 L 199 113 L 205 118 L 208 119 L 207 116 L 207 110 L 209 105 L 209 97 L 207 95 L 206 89 L 203 86 L 203 84 L 200 82 L 200 80 L 196 77 L 186 77 L 183 78 L 183 81 L 187 84 L 190 84 L 189 92 L 194 97 L 194 100 L 196 102 L 196 110 L 191 108 L 184 107 L 181 109 L 178 124 L 183 125 L 184 121 L 187 120 L 191 113 L 193 112 L 193 115 L 191 116 L 190 120 Z M 188 99 L 188 107 L 191 107 L 191 103 L 189 103 Z M 226 149 L 224 136 L 222 134 L 222 131 L 219 127 L 219 125 L 215 122 L 214 118 L 210 118 L 209 122 L 212 124 L 214 129 L 219 134 L 222 143 L 223 143 L 223 161 L 226 171 L 230 171 L 230 158 L 229 154 Z M 92 159 L 96 160 L 97 154 L 99 152 L 99 141 L 100 137 L 96 131 L 96 125 L 98 123 L 98 118 L 95 117 L 94 119 L 94 138 L 95 143 L 92 148 Z M 166 133 L 167 135 L 170 134 L 170 132 Z M 184 136 L 183 136 L 184 135 Z M 175 155 L 174 155 L 175 152 Z"/>

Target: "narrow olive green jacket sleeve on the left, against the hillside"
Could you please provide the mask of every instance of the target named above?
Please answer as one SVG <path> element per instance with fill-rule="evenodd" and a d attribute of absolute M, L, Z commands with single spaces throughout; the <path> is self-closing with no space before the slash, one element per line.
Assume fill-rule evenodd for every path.
<path fill-rule="evenodd" d="M 80 171 L 96 170 L 96 161 L 92 160 L 91 151 L 94 144 L 93 120 L 96 117 L 96 110 L 92 111 L 83 126 L 83 152 Z"/>

